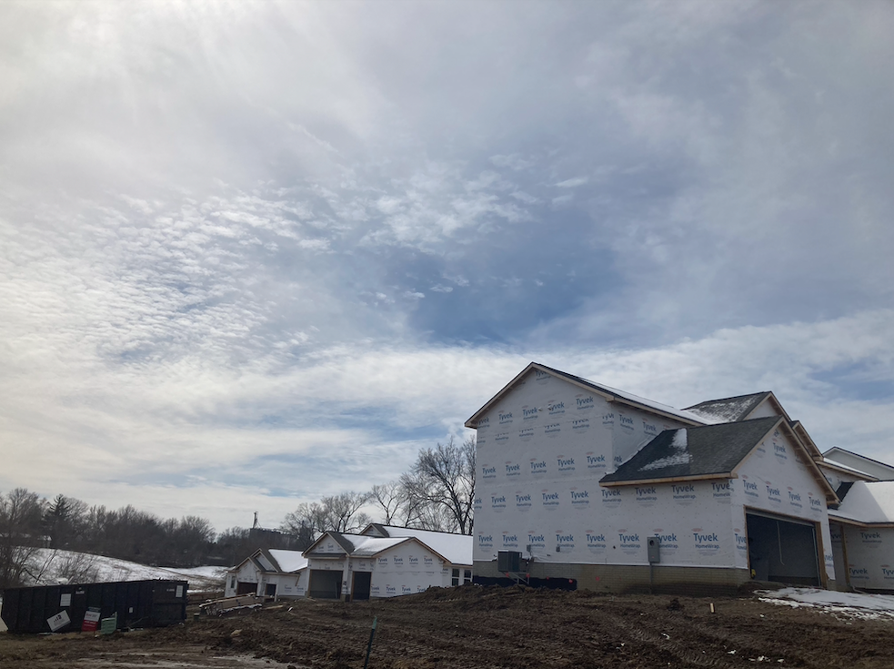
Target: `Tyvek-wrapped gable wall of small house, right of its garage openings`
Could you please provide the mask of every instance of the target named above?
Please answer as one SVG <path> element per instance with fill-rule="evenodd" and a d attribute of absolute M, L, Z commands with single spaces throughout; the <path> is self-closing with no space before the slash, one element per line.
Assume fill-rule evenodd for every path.
<path fill-rule="evenodd" d="M 373 573 L 370 597 L 424 593 L 431 586 L 450 585 L 450 564 L 417 542 L 401 543 L 375 558 L 354 558 L 351 562 L 356 571 Z"/>

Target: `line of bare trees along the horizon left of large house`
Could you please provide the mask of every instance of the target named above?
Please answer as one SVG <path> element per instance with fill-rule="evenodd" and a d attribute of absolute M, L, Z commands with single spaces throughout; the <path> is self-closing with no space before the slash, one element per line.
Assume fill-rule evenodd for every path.
<path fill-rule="evenodd" d="M 474 438 L 422 449 L 409 471 L 368 492 L 299 504 L 278 532 L 234 527 L 216 534 L 198 516 L 165 520 L 131 505 L 113 510 L 62 494 L 47 500 L 16 488 L 0 493 L 0 591 L 35 580 L 34 557 L 41 548 L 155 566 L 229 566 L 257 548 L 304 550 L 322 532 L 353 532 L 374 520 L 471 534 L 474 496 Z"/>

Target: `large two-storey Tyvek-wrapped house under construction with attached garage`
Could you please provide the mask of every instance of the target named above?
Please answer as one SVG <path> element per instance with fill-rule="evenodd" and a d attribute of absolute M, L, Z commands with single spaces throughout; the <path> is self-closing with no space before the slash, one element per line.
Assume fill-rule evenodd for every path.
<path fill-rule="evenodd" d="M 894 589 L 894 469 L 824 457 L 772 392 L 680 411 L 531 363 L 466 426 L 478 582 Z"/>

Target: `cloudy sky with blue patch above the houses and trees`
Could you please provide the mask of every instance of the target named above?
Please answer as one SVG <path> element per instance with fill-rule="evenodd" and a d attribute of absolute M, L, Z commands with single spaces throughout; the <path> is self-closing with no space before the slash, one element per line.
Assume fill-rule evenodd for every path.
<path fill-rule="evenodd" d="M 530 360 L 894 462 L 894 5 L 0 5 L 0 491 L 218 530 Z"/>

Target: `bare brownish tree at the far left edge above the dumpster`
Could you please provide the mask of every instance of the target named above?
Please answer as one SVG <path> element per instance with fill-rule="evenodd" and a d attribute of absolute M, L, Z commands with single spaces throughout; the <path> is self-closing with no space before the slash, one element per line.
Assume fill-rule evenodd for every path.
<path fill-rule="evenodd" d="M 0 590 L 24 583 L 28 563 L 45 543 L 45 505 L 25 488 L 0 495 Z"/>

